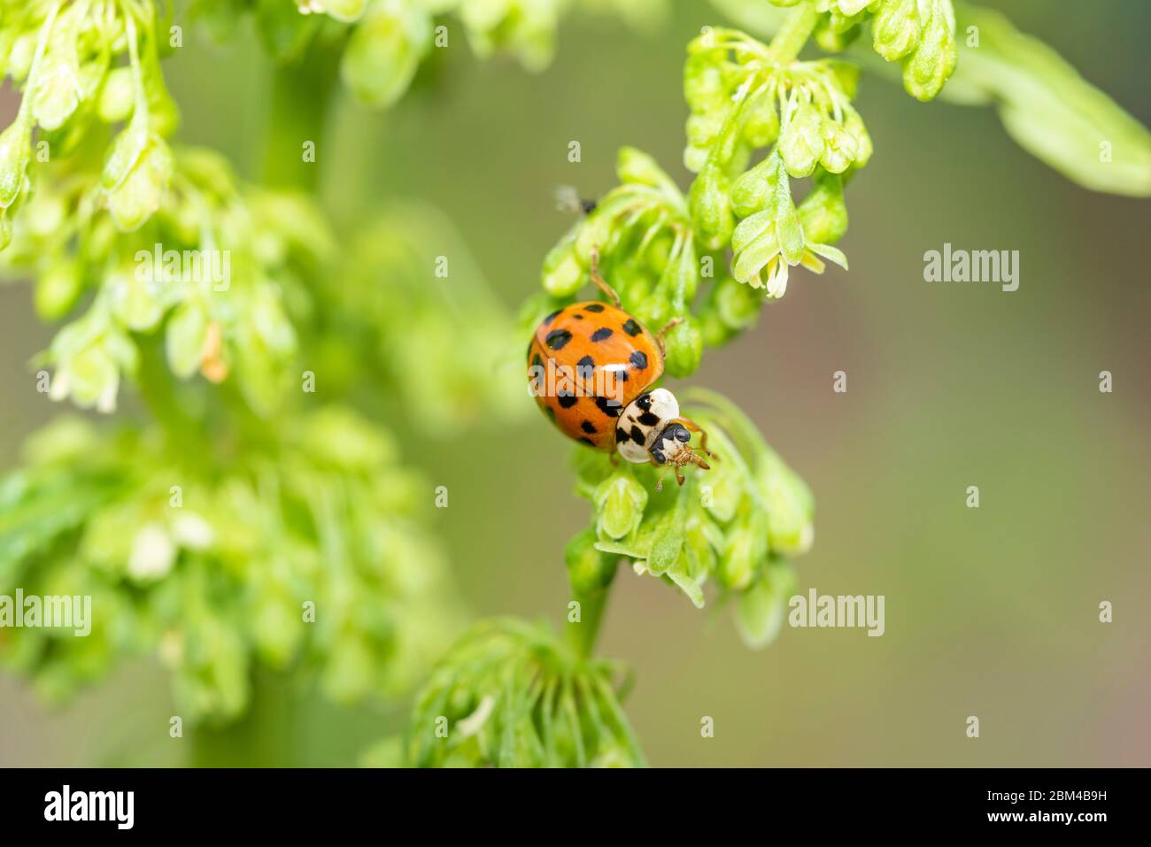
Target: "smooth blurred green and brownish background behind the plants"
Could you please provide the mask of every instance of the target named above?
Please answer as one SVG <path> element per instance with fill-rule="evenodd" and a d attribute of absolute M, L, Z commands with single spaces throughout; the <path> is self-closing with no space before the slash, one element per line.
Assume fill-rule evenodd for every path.
<path fill-rule="evenodd" d="M 1151 123 L 1145 3 L 985 5 Z M 673 3 L 650 33 L 576 15 L 539 75 L 480 62 L 458 38 L 390 112 L 341 92 L 318 150 L 323 200 L 337 227 L 389 197 L 432 201 L 514 310 L 571 223 L 556 185 L 603 193 L 625 144 L 686 185 L 684 48 L 708 23 L 724 20 L 694 1 Z M 258 180 L 269 64 L 251 40 L 188 38 L 165 69 L 182 139 Z M 626 708 L 655 765 L 1148 765 L 1148 205 L 1069 183 L 989 110 L 923 105 L 874 76 L 859 100 L 876 154 L 848 190 L 851 272 L 796 274 L 757 329 L 711 351 L 692 381 L 738 402 L 815 491 L 800 590 L 883 594 L 886 633 L 784 627 L 753 653 L 729 610 L 696 611 L 622 572 L 601 653 L 639 674 Z M 14 102 L 5 92 L 5 123 Z M 923 253 L 945 242 L 1020 251 L 1020 289 L 924 282 Z M 51 334 L 29 288 L 0 287 L 2 467 L 61 411 L 28 365 Z M 845 395 L 832 391 L 840 369 Z M 1103 369 L 1111 395 L 1098 390 Z M 473 611 L 558 621 L 563 545 L 588 506 L 555 430 L 534 412 L 452 441 L 390 424 L 405 460 L 451 493 L 436 529 Z M 978 510 L 965 506 L 971 484 Z M 1098 621 L 1104 600 L 1110 625 Z M 302 708 L 281 741 L 295 761 L 323 764 L 352 763 L 403 712 Z M 124 665 L 62 711 L 0 679 L 0 763 L 177 763 L 186 751 L 163 731 L 171 714 L 153 663 Z M 965 735 L 969 715 L 978 740 Z M 701 738 L 703 716 L 715 738 Z"/>

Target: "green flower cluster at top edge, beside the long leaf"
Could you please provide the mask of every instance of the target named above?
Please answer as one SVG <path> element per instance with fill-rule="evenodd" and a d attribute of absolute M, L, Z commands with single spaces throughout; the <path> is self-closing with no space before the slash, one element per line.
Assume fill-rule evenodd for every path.
<path fill-rule="evenodd" d="M 810 2 L 820 13 L 815 40 L 832 53 L 846 49 L 871 23 L 871 44 L 886 61 L 901 61 L 904 87 L 933 100 L 955 70 L 955 10 L 951 0 L 771 0 Z"/>

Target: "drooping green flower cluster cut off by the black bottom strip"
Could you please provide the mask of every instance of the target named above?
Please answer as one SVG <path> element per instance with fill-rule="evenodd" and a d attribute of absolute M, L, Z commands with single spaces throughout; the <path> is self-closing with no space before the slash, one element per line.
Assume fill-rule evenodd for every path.
<path fill-rule="evenodd" d="M 623 682 L 616 678 L 623 677 Z M 418 768 L 633 768 L 646 764 L 615 663 L 578 658 L 546 626 L 478 624 L 432 671 L 391 761 Z"/>

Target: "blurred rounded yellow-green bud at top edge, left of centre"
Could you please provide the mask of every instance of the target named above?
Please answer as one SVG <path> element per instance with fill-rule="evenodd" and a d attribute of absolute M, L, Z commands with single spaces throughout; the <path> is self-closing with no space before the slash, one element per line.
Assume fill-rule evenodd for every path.
<path fill-rule="evenodd" d="M 363 0 L 341 3 L 352 6 L 357 1 L 363 7 Z M 426 14 L 373 12 L 348 39 L 340 64 L 344 84 L 369 106 L 391 106 L 407 91 L 430 36 Z"/>

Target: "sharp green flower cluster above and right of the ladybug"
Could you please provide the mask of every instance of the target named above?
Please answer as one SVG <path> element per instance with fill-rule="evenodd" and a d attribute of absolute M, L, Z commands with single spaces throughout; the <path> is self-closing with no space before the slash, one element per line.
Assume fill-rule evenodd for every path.
<path fill-rule="evenodd" d="M 788 268 L 822 273 L 818 257 L 846 267 L 830 246 L 847 229 L 843 186 L 867 165 L 871 139 L 851 100 L 857 71 L 836 60 L 786 61 L 735 30 L 708 30 L 688 46 L 684 162 L 696 229 L 730 246 L 733 276 L 778 298 Z M 770 152 L 748 163 L 756 150 Z M 796 208 L 791 180 L 813 177 Z"/>

